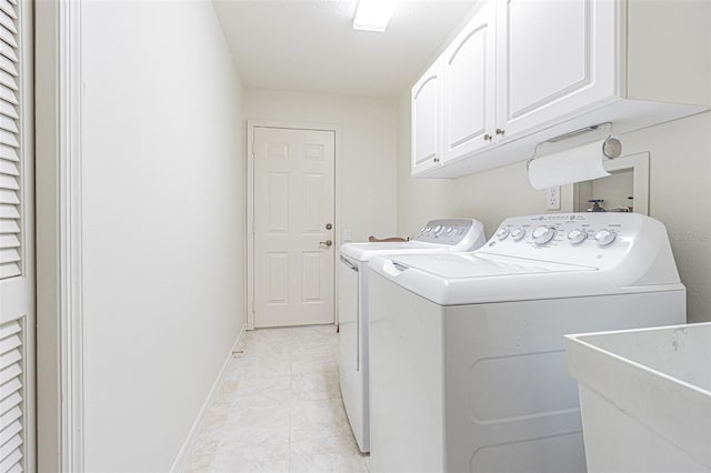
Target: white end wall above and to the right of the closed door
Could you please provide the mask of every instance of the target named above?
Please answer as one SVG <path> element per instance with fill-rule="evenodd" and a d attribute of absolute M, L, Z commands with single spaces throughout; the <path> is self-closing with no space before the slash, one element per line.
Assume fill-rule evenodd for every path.
<path fill-rule="evenodd" d="M 353 241 L 395 233 L 394 100 L 247 89 L 243 112 L 246 119 L 340 125 L 336 192 L 341 227 L 336 242 L 342 241 L 343 229 L 352 230 Z"/>

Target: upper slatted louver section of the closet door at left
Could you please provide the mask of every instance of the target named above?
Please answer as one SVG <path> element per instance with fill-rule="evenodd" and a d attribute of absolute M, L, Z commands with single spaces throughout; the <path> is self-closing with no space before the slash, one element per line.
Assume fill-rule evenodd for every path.
<path fill-rule="evenodd" d="M 17 0 L 0 0 L 0 280 L 22 274 Z"/>

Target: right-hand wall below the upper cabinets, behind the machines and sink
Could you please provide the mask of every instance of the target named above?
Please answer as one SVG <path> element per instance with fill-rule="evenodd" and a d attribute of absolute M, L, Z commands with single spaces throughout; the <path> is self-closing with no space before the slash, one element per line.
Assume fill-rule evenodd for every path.
<path fill-rule="evenodd" d="M 409 102 L 405 94 L 401 99 Z M 400 140 L 409 134 L 409 112 L 400 113 Z M 667 225 L 677 265 L 688 290 L 689 322 L 711 321 L 711 112 L 620 137 L 624 154 L 650 152 L 650 215 Z M 412 231 L 431 217 L 424 202 L 447 200 L 441 214 L 472 217 L 487 235 L 510 215 L 544 213 L 544 191 L 531 188 L 525 162 L 454 180 L 410 177 L 409 148 L 398 153 L 398 224 Z M 522 157 L 525 159 L 525 157 Z M 427 182 L 431 181 L 431 182 Z M 439 182 L 439 183 L 438 183 Z M 411 193 L 418 204 L 409 204 Z M 563 188 L 563 199 L 571 190 Z"/>

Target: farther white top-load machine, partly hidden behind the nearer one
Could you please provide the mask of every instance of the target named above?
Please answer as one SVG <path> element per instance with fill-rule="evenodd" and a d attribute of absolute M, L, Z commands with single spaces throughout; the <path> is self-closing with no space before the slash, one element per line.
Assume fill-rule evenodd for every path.
<path fill-rule="evenodd" d="M 413 240 L 346 243 L 339 264 L 339 380 L 351 430 L 362 452 L 368 435 L 368 261 L 378 254 L 450 253 L 475 250 L 485 242 L 481 222 L 432 220 Z"/>

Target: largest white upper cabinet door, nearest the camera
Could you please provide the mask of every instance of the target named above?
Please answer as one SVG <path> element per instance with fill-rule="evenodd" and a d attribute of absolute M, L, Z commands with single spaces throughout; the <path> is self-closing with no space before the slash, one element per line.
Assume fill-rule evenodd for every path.
<path fill-rule="evenodd" d="M 500 0 L 498 132 L 503 139 L 612 100 L 615 0 Z"/>

